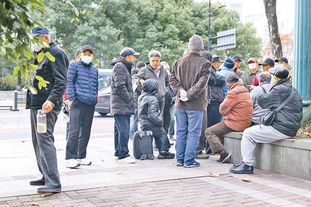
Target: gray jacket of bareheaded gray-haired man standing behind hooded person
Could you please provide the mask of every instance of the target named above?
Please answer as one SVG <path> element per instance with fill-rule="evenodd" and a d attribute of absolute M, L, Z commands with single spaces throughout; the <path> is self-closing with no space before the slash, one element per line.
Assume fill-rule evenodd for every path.
<path fill-rule="evenodd" d="M 133 76 L 133 83 L 136 82 L 137 85 L 140 85 L 139 80 L 148 80 L 148 79 L 154 79 L 158 81 L 159 90 L 154 95 L 158 102 L 164 101 L 165 94 L 169 92 L 169 74 L 160 66 L 160 74 L 159 77 L 155 73 L 154 69 L 151 67 L 151 65 L 147 65 L 146 67 L 141 68 L 138 73 Z"/>

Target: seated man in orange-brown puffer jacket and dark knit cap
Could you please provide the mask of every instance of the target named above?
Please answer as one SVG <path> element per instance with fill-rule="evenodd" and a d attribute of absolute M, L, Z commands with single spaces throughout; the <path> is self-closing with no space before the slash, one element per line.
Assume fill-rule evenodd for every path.
<path fill-rule="evenodd" d="M 248 90 L 238 80 L 235 73 L 227 76 L 228 92 L 219 108 L 224 121 L 205 131 L 212 153 L 220 153 L 220 159 L 217 160 L 219 163 L 228 162 L 231 156 L 223 145 L 223 135 L 228 132 L 243 132 L 251 124 L 253 101 Z"/>

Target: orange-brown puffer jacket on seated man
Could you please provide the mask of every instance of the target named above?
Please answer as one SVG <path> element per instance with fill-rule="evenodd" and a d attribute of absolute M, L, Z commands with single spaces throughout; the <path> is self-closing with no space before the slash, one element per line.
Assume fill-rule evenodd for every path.
<path fill-rule="evenodd" d="M 219 107 L 225 117 L 224 123 L 234 131 L 243 132 L 250 126 L 253 113 L 253 101 L 248 90 L 237 82 L 229 86 L 225 100 Z"/>

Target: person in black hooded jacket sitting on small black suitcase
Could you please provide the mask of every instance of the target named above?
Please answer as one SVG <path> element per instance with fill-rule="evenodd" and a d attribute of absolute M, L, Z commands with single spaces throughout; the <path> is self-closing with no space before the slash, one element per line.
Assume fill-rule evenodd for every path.
<path fill-rule="evenodd" d="M 169 151 L 168 136 L 164 130 L 159 102 L 154 96 L 158 92 L 158 82 L 148 79 L 143 82 L 143 93 L 138 97 L 138 119 L 142 131 L 152 131 L 159 149 L 158 159 L 173 159 L 175 154 Z"/>

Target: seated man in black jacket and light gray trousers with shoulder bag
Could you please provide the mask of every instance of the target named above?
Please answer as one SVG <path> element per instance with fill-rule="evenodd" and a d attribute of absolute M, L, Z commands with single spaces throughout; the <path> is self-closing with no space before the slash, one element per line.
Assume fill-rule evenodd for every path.
<path fill-rule="evenodd" d="M 253 173 L 254 150 L 256 143 L 270 143 L 296 136 L 302 119 L 302 100 L 298 91 L 287 79 L 289 71 L 284 67 L 270 68 L 273 86 L 271 90 L 258 97 L 262 109 L 275 110 L 285 101 L 292 91 L 294 95 L 278 112 L 271 125 L 255 125 L 243 132 L 241 152 L 243 162 L 230 168 L 233 173 Z"/>

